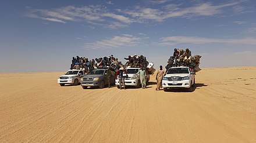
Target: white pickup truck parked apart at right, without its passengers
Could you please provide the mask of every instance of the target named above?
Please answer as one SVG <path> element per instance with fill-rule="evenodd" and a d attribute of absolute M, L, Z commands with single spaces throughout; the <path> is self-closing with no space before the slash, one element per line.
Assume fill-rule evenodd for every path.
<path fill-rule="evenodd" d="M 195 72 L 191 72 L 189 67 L 172 67 L 163 76 L 163 91 L 174 88 L 186 88 L 192 91 L 195 84 Z"/>

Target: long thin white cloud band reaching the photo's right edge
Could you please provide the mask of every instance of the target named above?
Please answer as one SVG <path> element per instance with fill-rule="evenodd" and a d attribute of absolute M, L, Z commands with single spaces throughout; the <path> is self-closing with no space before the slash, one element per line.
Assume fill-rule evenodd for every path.
<path fill-rule="evenodd" d="M 241 39 L 214 39 L 214 38 L 201 38 L 195 36 L 170 36 L 161 38 L 159 45 L 176 45 L 177 43 L 193 43 L 193 44 L 206 44 L 206 43 L 227 43 L 227 44 L 243 44 L 243 45 L 256 45 L 256 38 L 241 38 Z"/>

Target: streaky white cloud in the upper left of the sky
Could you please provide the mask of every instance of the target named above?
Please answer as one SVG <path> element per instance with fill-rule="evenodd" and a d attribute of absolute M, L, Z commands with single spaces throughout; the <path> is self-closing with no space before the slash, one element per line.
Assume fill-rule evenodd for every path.
<path fill-rule="evenodd" d="M 67 21 L 87 21 L 87 23 L 105 27 L 112 23 L 115 24 L 115 27 L 124 27 L 124 25 L 133 23 L 133 20 L 129 17 L 109 12 L 108 9 L 100 5 L 66 6 L 55 9 L 32 9 L 26 16 L 59 23 L 66 23 Z M 108 18 L 111 18 L 111 20 Z"/>

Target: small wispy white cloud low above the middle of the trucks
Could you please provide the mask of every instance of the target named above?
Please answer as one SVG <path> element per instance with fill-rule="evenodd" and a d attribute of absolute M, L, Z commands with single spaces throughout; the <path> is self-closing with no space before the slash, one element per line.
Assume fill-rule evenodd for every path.
<path fill-rule="evenodd" d="M 112 38 L 104 39 L 84 45 L 86 49 L 112 49 L 116 47 L 131 47 L 140 44 L 143 38 L 138 38 L 133 35 L 123 34 L 122 36 L 113 36 Z"/>

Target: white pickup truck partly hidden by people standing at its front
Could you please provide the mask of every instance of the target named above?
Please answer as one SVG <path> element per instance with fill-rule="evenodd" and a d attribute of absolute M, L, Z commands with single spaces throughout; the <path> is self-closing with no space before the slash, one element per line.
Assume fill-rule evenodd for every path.
<path fill-rule="evenodd" d="M 125 77 L 125 86 L 135 86 L 137 88 L 141 87 L 141 83 L 140 83 L 140 77 L 136 75 L 136 73 L 138 72 L 140 68 L 126 68 L 126 72 L 127 72 L 127 76 L 126 73 L 123 73 L 123 76 Z M 150 75 L 147 74 L 147 85 L 148 85 L 148 81 L 150 80 Z M 115 84 L 116 87 L 118 87 L 118 89 L 120 88 L 119 86 L 119 80 L 118 78 L 115 80 Z"/>

